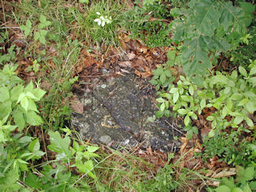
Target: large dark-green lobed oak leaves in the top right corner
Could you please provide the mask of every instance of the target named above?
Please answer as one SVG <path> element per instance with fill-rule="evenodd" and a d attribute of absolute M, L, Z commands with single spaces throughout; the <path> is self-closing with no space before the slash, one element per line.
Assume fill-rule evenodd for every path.
<path fill-rule="evenodd" d="M 181 8 L 174 20 L 175 42 L 182 46 L 182 66 L 187 76 L 202 81 L 206 69 L 212 68 L 222 52 L 235 49 L 250 26 L 254 6 L 243 2 L 242 8 L 232 2 L 192 0 Z M 178 13 L 176 11 L 176 13 Z"/>

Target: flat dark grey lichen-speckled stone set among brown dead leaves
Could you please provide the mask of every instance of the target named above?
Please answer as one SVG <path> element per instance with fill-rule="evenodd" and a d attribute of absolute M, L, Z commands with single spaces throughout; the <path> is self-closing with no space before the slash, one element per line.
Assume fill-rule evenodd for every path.
<path fill-rule="evenodd" d="M 170 118 L 154 118 L 156 106 L 147 93 L 148 86 L 143 86 L 132 74 L 98 84 L 92 93 L 78 95 L 84 113 L 72 114 L 72 126 L 84 140 L 90 138 L 113 148 L 138 145 L 174 151 L 180 142 L 173 137 L 180 134 L 173 130 Z"/>

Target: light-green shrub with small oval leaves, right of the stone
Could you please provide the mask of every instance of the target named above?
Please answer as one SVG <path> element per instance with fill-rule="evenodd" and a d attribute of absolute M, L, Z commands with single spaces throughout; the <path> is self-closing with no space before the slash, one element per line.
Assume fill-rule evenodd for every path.
<path fill-rule="evenodd" d="M 242 121 L 253 127 L 254 123 L 248 114 L 254 114 L 256 110 L 256 60 L 251 61 L 249 67 L 250 71 L 247 72 L 239 66 L 240 77 L 237 70 L 232 74 L 217 71 L 215 75 L 205 78 L 201 86 L 194 85 L 190 78 L 180 75 L 177 86 L 170 86 L 166 93 L 160 94 L 161 97 L 157 99 L 161 103 L 161 115 L 158 117 L 173 106 L 172 110 L 185 116 L 184 124 L 189 126 L 190 118 L 197 119 L 197 114 L 202 114 L 204 108 L 214 107 L 217 111 L 206 118 L 212 122 L 210 137 L 227 126 L 236 128 Z M 226 120 L 227 116 L 233 117 L 231 121 Z"/>

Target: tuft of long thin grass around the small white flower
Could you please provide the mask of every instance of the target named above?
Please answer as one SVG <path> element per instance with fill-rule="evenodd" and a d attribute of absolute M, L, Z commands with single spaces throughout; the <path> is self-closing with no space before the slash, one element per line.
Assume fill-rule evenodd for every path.
<path fill-rule="evenodd" d="M 118 29 L 122 26 L 124 10 L 122 1 L 91 2 L 91 5 L 86 7 L 86 14 L 77 18 L 78 25 L 81 26 L 80 37 L 90 46 L 96 45 L 98 48 L 102 43 L 106 47 L 118 46 Z"/>

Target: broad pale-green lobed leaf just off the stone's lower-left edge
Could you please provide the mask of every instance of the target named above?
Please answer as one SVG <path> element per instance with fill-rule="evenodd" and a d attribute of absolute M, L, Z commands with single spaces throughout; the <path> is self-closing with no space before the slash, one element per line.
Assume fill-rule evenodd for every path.
<path fill-rule="evenodd" d="M 47 146 L 48 149 L 62 154 L 62 158 L 71 158 L 70 138 L 62 138 L 58 131 L 49 131 L 48 134 L 50 135 L 50 146 Z"/>

